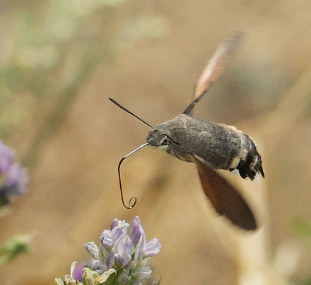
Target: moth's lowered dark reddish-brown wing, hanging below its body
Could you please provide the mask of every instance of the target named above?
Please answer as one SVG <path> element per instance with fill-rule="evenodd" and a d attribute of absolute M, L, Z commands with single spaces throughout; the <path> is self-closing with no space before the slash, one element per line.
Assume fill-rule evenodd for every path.
<path fill-rule="evenodd" d="M 218 214 L 224 215 L 233 224 L 247 231 L 257 229 L 254 214 L 242 195 L 216 171 L 207 166 L 204 159 L 194 154 L 194 160 L 204 193 Z"/>

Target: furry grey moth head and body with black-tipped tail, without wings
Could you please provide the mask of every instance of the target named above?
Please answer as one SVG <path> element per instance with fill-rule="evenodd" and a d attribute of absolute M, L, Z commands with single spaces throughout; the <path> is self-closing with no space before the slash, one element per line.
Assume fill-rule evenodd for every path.
<path fill-rule="evenodd" d="M 233 126 L 211 123 L 188 114 L 160 123 L 147 142 L 184 162 L 197 159 L 212 169 L 237 169 L 242 178 L 264 176 L 262 159 L 252 139 Z"/>

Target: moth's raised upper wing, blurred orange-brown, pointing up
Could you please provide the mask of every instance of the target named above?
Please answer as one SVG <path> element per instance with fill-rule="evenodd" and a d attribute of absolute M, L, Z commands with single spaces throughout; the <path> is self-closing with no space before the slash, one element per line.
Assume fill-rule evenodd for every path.
<path fill-rule="evenodd" d="M 218 79 L 221 73 L 223 73 L 226 66 L 228 66 L 231 57 L 237 50 L 237 47 L 240 46 L 241 41 L 242 33 L 235 32 L 234 35 L 228 37 L 228 40 L 216 49 L 196 82 L 193 101 L 182 114 L 192 114 L 192 109 L 195 104 L 199 102 L 201 97 L 203 97 L 211 85 Z"/>

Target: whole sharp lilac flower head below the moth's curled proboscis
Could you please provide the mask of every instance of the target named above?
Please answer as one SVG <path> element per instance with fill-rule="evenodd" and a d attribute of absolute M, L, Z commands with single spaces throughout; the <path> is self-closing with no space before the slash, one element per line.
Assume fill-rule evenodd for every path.
<path fill-rule="evenodd" d="M 131 231 L 125 221 L 114 219 L 110 230 L 100 236 L 100 247 L 93 243 L 84 246 L 93 257 L 82 269 L 74 262 L 71 274 L 64 280 L 55 279 L 59 285 L 117 284 L 142 285 L 151 277 L 148 260 L 160 252 L 157 238 L 146 241 L 146 234 L 139 217 L 135 217 Z"/>

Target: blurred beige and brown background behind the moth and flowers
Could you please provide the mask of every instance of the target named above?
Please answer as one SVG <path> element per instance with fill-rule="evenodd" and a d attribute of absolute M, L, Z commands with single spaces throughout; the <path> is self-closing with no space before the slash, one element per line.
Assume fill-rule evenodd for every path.
<path fill-rule="evenodd" d="M 0 243 L 33 235 L 1 284 L 54 284 L 88 257 L 115 217 L 139 215 L 161 253 L 161 284 L 310 284 L 310 1 L 1 1 L 0 135 L 30 169 L 28 193 L 0 220 Z M 235 30 L 245 42 L 196 107 L 257 141 L 266 179 L 229 176 L 262 228 L 216 217 L 193 164 L 143 149 L 151 124 L 189 104 L 196 79 Z M 309 283 L 307 283 L 309 282 Z"/>

